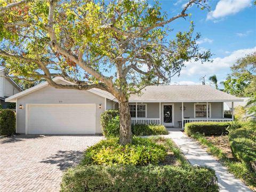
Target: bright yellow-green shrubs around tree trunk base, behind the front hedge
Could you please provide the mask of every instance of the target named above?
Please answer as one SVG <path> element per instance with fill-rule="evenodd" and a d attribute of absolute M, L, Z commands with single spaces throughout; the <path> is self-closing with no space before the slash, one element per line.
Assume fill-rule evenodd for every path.
<path fill-rule="evenodd" d="M 129 145 L 119 145 L 118 138 L 102 140 L 85 151 L 82 165 L 158 164 L 166 157 L 163 145 L 147 138 L 133 138 Z"/>

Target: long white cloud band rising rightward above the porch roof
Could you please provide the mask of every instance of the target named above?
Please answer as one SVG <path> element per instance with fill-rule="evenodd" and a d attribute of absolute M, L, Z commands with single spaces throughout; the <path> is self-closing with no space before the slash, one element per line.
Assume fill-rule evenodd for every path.
<path fill-rule="evenodd" d="M 252 49 L 241 49 L 231 52 L 227 57 L 223 58 L 214 58 L 213 62 L 204 62 L 201 61 L 190 61 L 186 62 L 186 67 L 181 70 L 181 75 L 185 76 L 195 76 L 195 75 L 205 75 L 205 74 L 214 74 L 219 71 L 229 69 L 238 58 L 244 57 L 246 54 L 256 51 L 256 46 Z"/>

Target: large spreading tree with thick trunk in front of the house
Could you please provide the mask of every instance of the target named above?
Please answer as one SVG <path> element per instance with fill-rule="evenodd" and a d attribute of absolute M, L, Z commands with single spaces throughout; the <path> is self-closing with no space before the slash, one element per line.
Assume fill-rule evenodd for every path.
<path fill-rule="evenodd" d="M 98 88 L 119 102 L 120 143 L 131 142 L 129 95 L 147 85 L 169 83 L 184 62 L 208 60 L 196 44 L 199 34 L 175 34 L 168 23 L 188 17 L 190 0 L 178 15 L 168 17 L 158 2 L 0 0 L 0 57 L 15 77 L 45 79 L 57 89 Z M 55 83 L 63 77 L 73 85 Z"/>

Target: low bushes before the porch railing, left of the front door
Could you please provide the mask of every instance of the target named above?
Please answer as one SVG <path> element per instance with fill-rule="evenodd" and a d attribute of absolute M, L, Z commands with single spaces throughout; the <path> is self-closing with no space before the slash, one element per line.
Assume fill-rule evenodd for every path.
<path fill-rule="evenodd" d="M 136 136 L 163 135 L 168 134 L 168 131 L 164 125 L 134 124 L 132 125 L 132 134 Z"/>

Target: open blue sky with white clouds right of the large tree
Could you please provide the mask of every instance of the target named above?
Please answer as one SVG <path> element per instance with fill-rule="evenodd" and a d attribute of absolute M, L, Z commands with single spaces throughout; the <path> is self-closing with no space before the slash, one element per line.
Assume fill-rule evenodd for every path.
<path fill-rule="evenodd" d="M 159 1 L 169 17 L 178 14 L 188 1 Z M 152 2 L 153 3 L 153 2 Z M 195 32 L 201 33 L 198 43 L 202 50 L 211 50 L 213 62 L 188 62 L 180 77 L 173 77 L 172 84 L 200 84 L 199 78 L 216 74 L 223 81 L 238 58 L 256 51 L 256 6 L 251 0 L 207 1 L 211 11 L 200 10 L 195 5 L 187 13 L 195 24 Z M 188 30 L 189 18 L 170 23 L 174 35 L 179 30 Z"/>

